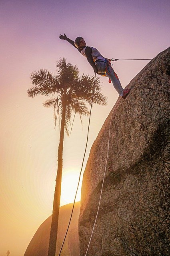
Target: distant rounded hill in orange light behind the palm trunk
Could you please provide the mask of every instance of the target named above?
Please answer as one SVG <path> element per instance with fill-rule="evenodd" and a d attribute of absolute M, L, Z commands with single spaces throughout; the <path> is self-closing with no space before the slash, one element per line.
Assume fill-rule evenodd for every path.
<path fill-rule="evenodd" d="M 59 253 L 62 241 L 70 220 L 70 214 L 73 204 L 66 204 L 60 207 L 58 220 L 58 238 L 56 255 Z M 79 256 L 79 242 L 78 242 L 78 217 L 80 213 L 80 202 L 76 202 L 74 212 L 68 235 L 61 253 L 61 256 Z M 34 234 L 30 244 L 28 245 L 24 256 L 47 256 L 48 243 L 50 237 L 52 215 L 48 217 L 38 228 Z"/>

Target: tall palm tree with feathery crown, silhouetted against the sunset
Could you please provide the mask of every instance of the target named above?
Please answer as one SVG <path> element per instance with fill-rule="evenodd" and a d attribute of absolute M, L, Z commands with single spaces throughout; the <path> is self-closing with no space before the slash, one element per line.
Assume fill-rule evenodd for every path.
<path fill-rule="evenodd" d="M 77 66 L 66 64 L 65 58 L 60 58 L 57 62 L 57 74 L 53 74 L 48 70 L 40 70 L 31 74 L 33 87 L 28 90 L 28 96 L 36 95 L 48 96 L 56 94 L 56 97 L 50 98 L 44 102 L 45 107 L 54 108 L 55 125 L 56 120 L 60 126 L 60 141 L 58 146 L 58 168 L 56 176 L 56 187 L 54 192 L 54 203 L 52 212 L 52 223 L 50 230 L 50 242 L 48 248 L 48 256 L 55 256 L 56 240 L 58 230 L 58 214 L 60 207 L 61 180 L 62 180 L 62 164 L 63 164 L 63 142 L 64 130 L 69 136 L 70 118 L 72 113 L 79 114 L 80 120 L 82 115 L 88 115 L 89 111 L 86 102 L 91 103 L 94 87 L 93 102 L 99 105 L 106 105 L 106 96 L 100 90 L 100 80 L 94 76 L 78 75 Z"/>

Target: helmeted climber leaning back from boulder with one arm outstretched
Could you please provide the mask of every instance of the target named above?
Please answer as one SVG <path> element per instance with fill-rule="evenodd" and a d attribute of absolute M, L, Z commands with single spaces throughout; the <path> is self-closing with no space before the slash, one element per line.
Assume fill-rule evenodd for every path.
<path fill-rule="evenodd" d="M 124 90 L 120 84 L 117 74 L 114 72 L 110 64 L 110 59 L 104 58 L 100 52 L 94 47 L 86 46 L 86 42 L 82 37 L 77 37 L 75 42 L 68 38 L 66 34 L 59 36 L 60 39 L 68 41 L 72 46 L 76 47 L 81 54 L 87 58 L 88 62 L 94 69 L 94 73 L 101 76 L 108 76 L 119 96 L 126 98 L 130 89 Z"/>

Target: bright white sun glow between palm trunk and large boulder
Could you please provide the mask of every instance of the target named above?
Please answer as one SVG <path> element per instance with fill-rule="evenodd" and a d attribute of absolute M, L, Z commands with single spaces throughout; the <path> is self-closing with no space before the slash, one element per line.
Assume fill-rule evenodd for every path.
<path fill-rule="evenodd" d="M 74 197 L 75 197 L 76 189 L 78 186 L 78 179 L 79 179 L 79 171 L 70 170 L 63 173 L 60 206 L 74 202 Z M 79 188 L 76 196 L 76 202 L 80 201 L 80 198 L 81 198 L 81 186 L 82 186 L 82 178 L 80 179 L 80 184 L 79 184 Z"/>

